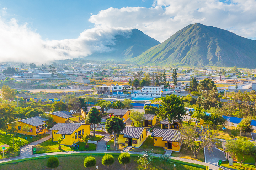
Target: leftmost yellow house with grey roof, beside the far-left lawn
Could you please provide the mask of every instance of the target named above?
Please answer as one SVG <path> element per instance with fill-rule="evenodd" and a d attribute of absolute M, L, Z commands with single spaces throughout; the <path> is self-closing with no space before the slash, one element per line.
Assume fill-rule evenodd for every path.
<path fill-rule="evenodd" d="M 31 127 L 30 132 L 28 132 L 28 135 L 36 136 L 37 134 L 43 134 L 45 132 L 48 132 L 46 127 L 46 122 L 48 119 L 44 119 L 39 116 L 35 116 L 32 118 L 27 118 L 23 120 L 18 120 L 17 122 L 20 123 L 16 128 L 18 129 L 18 133 L 25 134 L 25 131 L 22 130 L 23 125 L 28 125 Z M 8 124 L 8 128 L 10 128 L 10 124 Z"/>

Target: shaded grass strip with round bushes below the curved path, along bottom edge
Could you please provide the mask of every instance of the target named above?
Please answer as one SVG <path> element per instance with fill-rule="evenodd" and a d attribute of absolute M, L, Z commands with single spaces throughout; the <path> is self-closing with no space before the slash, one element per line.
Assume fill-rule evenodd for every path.
<path fill-rule="evenodd" d="M 98 166 L 99 170 L 106 170 L 107 166 L 102 165 L 101 159 L 102 155 L 94 156 L 96 159 L 96 165 L 91 167 L 91 170 L 95 170 L 96 166 Z M 59 159 L 59 166 L 54 170 L 78 170 L 78 169 L 86 169 L 83 161 L 86 156 L 66 156 L 66 157 L 57 157 Z M 137 162 L 139 158 L 131 157 L 131 162 L 126 165 L 126 169 L 124 169 L 124 165 L 118 162 L 118 156 L 114 155 L 114 163 L 109 166 L 111 170 L 145 170 L 144 165 L 141 165 Z M 34 159 L 34 160 L 26 160 L 23 162 L 18 162 L 15 164 L 5 164 L 0 165 L 1 170 L 51 170 L 46 167 L 48 158 Z M 177 170 L 203 170 L 202 168 L 197 168 L 190 165 L 183 165 L 180 163 L 171 162 L 169 164 L 165 164 L 165 169 L 163 169 L 163 164 L 159 159 L 153 159 L 152 162 L 147 166 L 147 170 L 172 170 L 174 169 L 174 164 L 176 165 Z"/>

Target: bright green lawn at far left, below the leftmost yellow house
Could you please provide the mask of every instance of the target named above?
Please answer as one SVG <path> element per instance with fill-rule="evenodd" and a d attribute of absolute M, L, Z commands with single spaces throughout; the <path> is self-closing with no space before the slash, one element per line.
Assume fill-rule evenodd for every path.
<path fill-rule="evenodd" d="M 3 145 L 3 144 L 7 144 L 10 147 L 12 147 L 13 137 L 10 136 L 10 135 L 6 135 L 6 133 L 1 131 L 1 130 L 0 130 L 0 132 L 2 132 L 2 134 L 0 135 L 0 146 Z M 21 137 L 19 137 L 19 136 L 21 136 Z M 31 136 L 27 135 L 27 139 L 25 139 L 25 135 L 17 134 L 14 137 L 14 152 L 7 152 L 7 153 L 5 152 L 4 153 L 4 158 L 18 156 L 20 154 L 20 147 L 22 147 L 24 145 L 27 145 L 28 143 L 37 141 L 41 138 L 41 137 L 32 136 L 32 139 L 31 139 L 30 137 Z M 21 140 L 21 142 L 20 142 L 20 140 Z M 2 159 L 3 158 L 2 148 L 0 148 L 0 153 L 1 153 L 0 154 L 0 159 Z"/>

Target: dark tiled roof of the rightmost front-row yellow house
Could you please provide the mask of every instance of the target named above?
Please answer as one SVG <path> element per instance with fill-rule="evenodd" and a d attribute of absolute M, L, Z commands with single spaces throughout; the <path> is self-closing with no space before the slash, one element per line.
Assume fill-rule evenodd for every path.
<path fill-rule="evenodd" d="M 154 129 L 152 132 L 152 137 L 162 137 L 163 141 L 174 141 L 180 142 L 181 132 L 180 130 L 174 129 Z"/>

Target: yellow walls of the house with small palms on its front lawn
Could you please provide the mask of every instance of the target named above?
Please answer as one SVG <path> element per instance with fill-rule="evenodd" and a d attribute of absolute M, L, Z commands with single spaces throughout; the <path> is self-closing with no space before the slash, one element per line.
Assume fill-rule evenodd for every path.
<path fill-rule="evenodd" d="M 81 125 L 71 135 L 65 135 L 65 139 L 63 139 L 61 144 L 62 145 L 71 145 L 71 144 L 76 143 L 76 142 L 82 142 L 82 140 L 79 137 L 75 139 L 75 132 L 78 132 L 82 129 L 84 129 L 84 135 L 83 136 L 85 136 L 85 134 L 90 134 L 90 125 L 86 125 L 86 124 Z M 54 134 L 54 132 L 55 132 L 55 134 Z M 57 132 L 58 132 L 58 130 L 53 130 L 52 131 L 52 135 L 53 135 L 52 140 L 55 141 L 55 142 L 57 141 L 58 137 L 62 136 L 62 134 L 56 134 Z"/>

